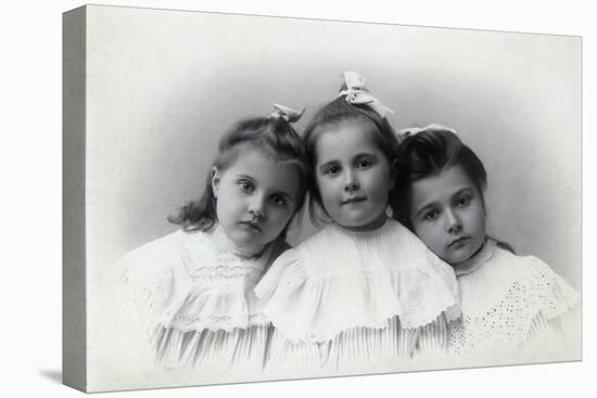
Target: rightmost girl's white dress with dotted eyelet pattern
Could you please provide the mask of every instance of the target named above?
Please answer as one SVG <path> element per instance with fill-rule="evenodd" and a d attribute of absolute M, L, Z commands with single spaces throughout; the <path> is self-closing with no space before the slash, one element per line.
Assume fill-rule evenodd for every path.
<path fill-rule="evenodd" d="M 516 256 L 487 240 L 455 271 L 462 318 L 450 324 L 445 363 L 571 359 L 571 342 L 567 342 L 560 321 L 574 307 L 577 295 L 545 262 L 533 256 Z"/>

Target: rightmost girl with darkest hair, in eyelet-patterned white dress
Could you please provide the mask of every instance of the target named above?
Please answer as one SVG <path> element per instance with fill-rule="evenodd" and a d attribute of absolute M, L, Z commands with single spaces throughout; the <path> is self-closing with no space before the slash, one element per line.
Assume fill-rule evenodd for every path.
<path fill-rule="evenodd" d="M 487 236 L 485 167 L 454 130 L 406 131 L 394 183 L 397 219 L 458 279 L 462 319 L 450 324 L 448 359 L 472 365 L 570 357 L 561 318 L 575 292 L 541 259 Z"/>

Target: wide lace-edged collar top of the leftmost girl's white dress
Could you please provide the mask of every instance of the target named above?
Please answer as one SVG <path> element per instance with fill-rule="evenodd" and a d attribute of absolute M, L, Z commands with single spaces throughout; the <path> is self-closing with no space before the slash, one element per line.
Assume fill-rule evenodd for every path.
<path fill-rule="evenodd" d="M 177 331 L 232 331 L 263 325 L 252 288 L 282 242 L 259 256 L 234 253 L 214 231 L 183 230 L 132 251 L 122 282 L 141 317 Z"/>

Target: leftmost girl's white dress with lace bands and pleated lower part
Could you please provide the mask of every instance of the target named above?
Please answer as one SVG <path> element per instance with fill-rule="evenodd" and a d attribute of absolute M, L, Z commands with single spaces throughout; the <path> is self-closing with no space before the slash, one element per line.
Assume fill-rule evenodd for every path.
<path fill-rule="evenodd" d="M 156 362 L 211 374 L 262 368 L 271 326 L 253 287 L 285 248 L 277 241 L 243 252 L 216 227 L 180 230 L 123 257 L 123 281 Z"/>

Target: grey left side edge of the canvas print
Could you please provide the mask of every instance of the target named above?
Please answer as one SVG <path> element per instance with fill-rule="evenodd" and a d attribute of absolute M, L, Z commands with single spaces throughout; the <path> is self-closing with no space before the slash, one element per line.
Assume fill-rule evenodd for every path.
<path fill-rule="evenodd" d="M 86 18 L 62 15 L 62 383 L 87 390 Z"/>

